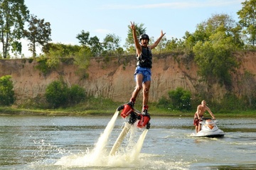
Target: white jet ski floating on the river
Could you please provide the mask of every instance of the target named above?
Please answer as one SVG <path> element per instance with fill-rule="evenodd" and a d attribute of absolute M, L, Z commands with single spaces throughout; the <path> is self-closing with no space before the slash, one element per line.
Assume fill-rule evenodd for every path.
<path fill-rule="evenodd" d="M 195 137 L 223 137 L 225 133 L 216 125 L 217 120 L 204 119 L 200 122 L 201 130 L 194 135 Z"/>

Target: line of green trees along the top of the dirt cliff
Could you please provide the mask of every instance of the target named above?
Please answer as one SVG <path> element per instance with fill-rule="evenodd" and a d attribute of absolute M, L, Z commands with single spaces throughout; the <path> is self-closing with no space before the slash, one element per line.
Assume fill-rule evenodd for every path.
<path fill-rule="evenodd" d="M 124 47 L 120 46 L 121 39 L 118 35 L 107 34 L 103 40 L 97 36 L 90 37 L 90 33 L 81 30 L 76 36 L 80 45 L 63 45 L 51 43 L 50 23 L 44 19 L 37 18 L 31 14 L 24 0 L 1 0 L 0 6 L 0 39 L 1 39 L 1 57 L 10 58 L 10 53 L 21 55 L 22 45 L 21 38 L 28 40 L 28 50 L 32 52 L 32 57 L 37 57 L 36 46 L 41 46 L 43 52 L 48 54 L 51 50 L 65 50 L 63 55 L 70 57 L 73 51 L 80 50 L 85 47 L 92 57 L 106 55 L 127 55 L 134 53 L 134 42 L 132 31 L 128 28 L 127 38 Z M 255 22 L 255 0 L 247 0 L 241 3 L 242 8 L 237 12 L 238 18 L 236 22 L 228 14 L 215 14 L 206 21 L 199 23 L 194 33 L 185 33 L 183 38 L 171 38 L 171 40 L 161 41 L 156 49 L 159 52 L 174 52 L 176 50 L 183 52 L 193 52 L 193 47 L 200 45 L 208 46 L 216 45 L 219 41 L 225 43 L 225 49 L 245 50 L 254 49 L 256 40 L 256 22 Z M 28 25 L 25 28 L 26 24 Z M 137 35 L 146 33 L 144 23 L 136 23 Z M 154 38 L 151 38 L 154 42 Z M 230 45 L 228 44 L 230 43 Z M 59 46 L 62 46 L 59 49 Z M 195 49 L 195 50 L 196 50 Z M 59 54 L 58 54 L 59 55 Z M 61 57 L 63 57 L 63 55 Z"/>

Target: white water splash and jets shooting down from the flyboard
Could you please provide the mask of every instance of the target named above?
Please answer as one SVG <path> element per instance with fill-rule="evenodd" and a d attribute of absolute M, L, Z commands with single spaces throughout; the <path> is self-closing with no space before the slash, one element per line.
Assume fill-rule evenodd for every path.
<path fill-rule="evenodd" d="M 134 135 L 137 130 L 136 127 L 132 126 L 129 130 L 128 143 L 126 144 L 130 148 L 121 148 L 117 154 L 110 155 L 107 152 L 106 145 L 108 138 L 114 128 L 114 123 L 117 120 L 118 111 L 114 113 L 112 119 L 107 124 L 102 135 L 100 135 L 95 148 L 92 152 L 87 150 L 84 154 L 70 155 L 62 157 L 55 165 L 59 166 L 76 166 L 76 167 L 92 167 L 92 166 L 103 166 L 103 167 L 134 167 L 134 166 L 146 166 L 149 162 L 139 161 L 139 152 L 141 152 L 144 139 L 148 130 L 144 130 L 139 136 L 139 140 L 134 142 Z M 121 152 L 122 151 L 122 152 Z"/>

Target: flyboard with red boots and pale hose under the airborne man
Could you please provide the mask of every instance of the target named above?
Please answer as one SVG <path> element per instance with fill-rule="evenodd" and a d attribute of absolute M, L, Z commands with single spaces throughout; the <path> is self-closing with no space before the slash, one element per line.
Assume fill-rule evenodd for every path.
<path fill-rule="evenodd" d="M 128 123 L 124 124 L 124 128 L 122 129 L 122 132 L 120 132 L 119 136 L 117 137 L 117 140 L 114 142 L 114 145 L 110 151 L 110 155 L 114 155 L 117 152 L 117 149 L 122 144 L 122 141 L 124 140 L 124 137 L 129 132 L 130 128 L 134 123 L 137 123 L 137 128 L 144 128 L 145 130 L 149 130 L 150 128 L 150 115 L 149 114 L 143 114 L 140 111 L 137 111 L 129 104 L 124 104 L 122 106 L 119 106 L 117 108 L 117 111 L 121 111 L 121 117 L 127 118 L 129 116 Z"/>

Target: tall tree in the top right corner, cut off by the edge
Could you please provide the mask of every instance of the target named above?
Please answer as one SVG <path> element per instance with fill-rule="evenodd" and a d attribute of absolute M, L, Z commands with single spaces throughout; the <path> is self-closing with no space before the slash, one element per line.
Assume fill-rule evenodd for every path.
<path fill-rule="evenodd" d="M 254 46 L 256 42 L 256 0 L 246 0 L 241 4 L 242 9 L 238 11 L 239 23 L 245 28 L 245 34 L 250 35 L 249 43 Z"/>

